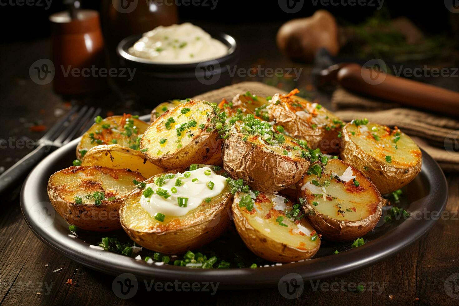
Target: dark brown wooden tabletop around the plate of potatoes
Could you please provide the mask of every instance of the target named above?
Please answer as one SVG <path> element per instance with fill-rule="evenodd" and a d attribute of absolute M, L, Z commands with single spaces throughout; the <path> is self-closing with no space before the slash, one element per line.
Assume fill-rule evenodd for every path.
<path fill-rule="evenodd" d="M 278 25 L 263 27 L 266 33 L 263 39 L 260 38 L 263 35 L 252 36 L 251 27 L 231 29 L 230 33 L 243 42 L 240 67 L 250 67 L 254 63 L 262 63 L 264 67 L 298 67 L 277 52 L 274 34 Z M 259 50 L 260 45 L 267 52 L 264 59 L 259 59 L 256 52 L 248 51 L 252 48 Z M 48 40 L 28 45 L 4 45 L 2 48 L 0 138 L 19 139 L 25 136 L 39 139 L 43 132 L 31 132 L 30 126 L 35 123 L 49 128 L 61 115 L 60 110 L 65 111 L 70 103 L 91 104 L 97 101 L 98 105 L 110 105 L 104 107 L 106 111 L 138 114 L 145 114 L 152 108 L 120 100 L 110 92 L 78 101 L 64 100 L 53 93 L 51 84 L 40 86 L 28 77 L 32 62 L 49 58 Z M 243 79 L 247 80 L 235 77 L 235 82 Z M 309 83 L 307 70 L 303 71 L 299 83 L 303 87 Z M 322 104 L 328 104 L 327 95 L 318 97 Z M 21 149 L 19 145 L 0 149 L 0 167 L 10 167 L 30 150 Z M 0 305 L 135 305 L 151 302 L 187 305 L 202 302 L 219 305 L 458 305 L 459 274 L 455 274 L 459 273 L 457 173 L 448 175 L 448 185 L 448 220 L 439 220 L 422 239 L 372 267 L 322 279 L 319 287 L 316 282 L 305 281 L 302 295 L 293 300 L 284 298 L 277 288 L 250 291 L 241 288 L 237 292 L 217 290 L 212 295 L 210 292 L 151 292 L 154 289 L 148 291 L 143 284 L 133 298 L 119 299 L 112 290 L 114 277 L 95 272 L 57 254 L 32 234 L 22 217 L 17 199 L 20 186 L 16 186 L 10 195 L 3 198 L 4 209 L 0 215 Z M 54 272 L 57 269 L 61 270 Z M 76 284 L 66 284 L 69 278 Z M 372 283 L 374 290 L 353 292 L 347 289 L 350 283 Z"/>

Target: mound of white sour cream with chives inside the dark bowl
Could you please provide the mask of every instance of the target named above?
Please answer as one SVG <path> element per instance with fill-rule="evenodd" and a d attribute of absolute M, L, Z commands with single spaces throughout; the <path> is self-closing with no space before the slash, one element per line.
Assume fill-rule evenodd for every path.
<path fill-rule="evenodd" d="M 159 26 L 144 33 L 129 48 L 129 54 L 133 56 L 171 64 L 196 63 L 216 59 L 227 53 L 226 45 L 189 22 Z"/>

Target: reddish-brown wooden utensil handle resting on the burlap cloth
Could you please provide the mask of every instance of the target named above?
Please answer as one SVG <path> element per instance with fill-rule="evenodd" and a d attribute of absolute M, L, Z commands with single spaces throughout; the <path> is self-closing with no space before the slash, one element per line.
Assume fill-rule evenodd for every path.
<path fill-rule="evenodd" d="M 459 93 L 437 86 L 398 78 L 369 67 L 349 64 L 340 69 L 338 83 L 346 89 L 405 106 L 459 116 Z"/>

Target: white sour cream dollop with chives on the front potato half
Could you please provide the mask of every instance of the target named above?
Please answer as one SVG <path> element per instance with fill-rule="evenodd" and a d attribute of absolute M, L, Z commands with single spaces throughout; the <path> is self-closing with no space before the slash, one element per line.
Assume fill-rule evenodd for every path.
<path fill-rule="evenodd" d="M 210 175 L 206 175 L 204 173 L 206 171 L 210 171 Z M 166 217 L 180 217 L 198 207 L 206 198 L 213 198 L 214 196 L 221 194 L 228 184 L 224 176 L 218 175 L 209 167 L 202 167 L 186 172 L 190 172 L 190 177 L 185 178 L 185 172 L 177 173 L 174 178 L 166 179 L 161 187 L 156 184 L 147 184 L 144 190 L 150 187 L 153 189 L 154 193 L 148 198 L 142 194 L 142 197 L 140 198 L 140 206 L 142 206 L 142 208 L 145 209 L 152 217 L 157 212 L 166 215 Z M 180 186 L 175 186 L 177 178 L 182 181 Z M 193 182 L 193 179 L 195 178 L 197 178 L 197 181 Z M 207 186 L 207 183 L 209 182 L 214 184 L 212 190 Z M 167 190 L 168 194 L 171 196 L 164 198 L 163 196 L 158 195 L 156 192 L 158 188 Z M 172 188 L 176 188 L 177 193 L 172 193 Z M 188 198 L 186 207 L 179 206 L 179 197 Z"/>

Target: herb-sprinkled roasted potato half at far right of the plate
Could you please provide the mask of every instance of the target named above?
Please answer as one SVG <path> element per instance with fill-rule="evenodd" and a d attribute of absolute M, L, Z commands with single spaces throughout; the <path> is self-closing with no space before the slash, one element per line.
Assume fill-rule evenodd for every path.
<path fill-rule="evenodd" d="M 344 126 L 341 159 L 371 178 L 383 195 L 411 182 L 422 166 L 421 150 L 408 135 L 366 120 Z"/>

